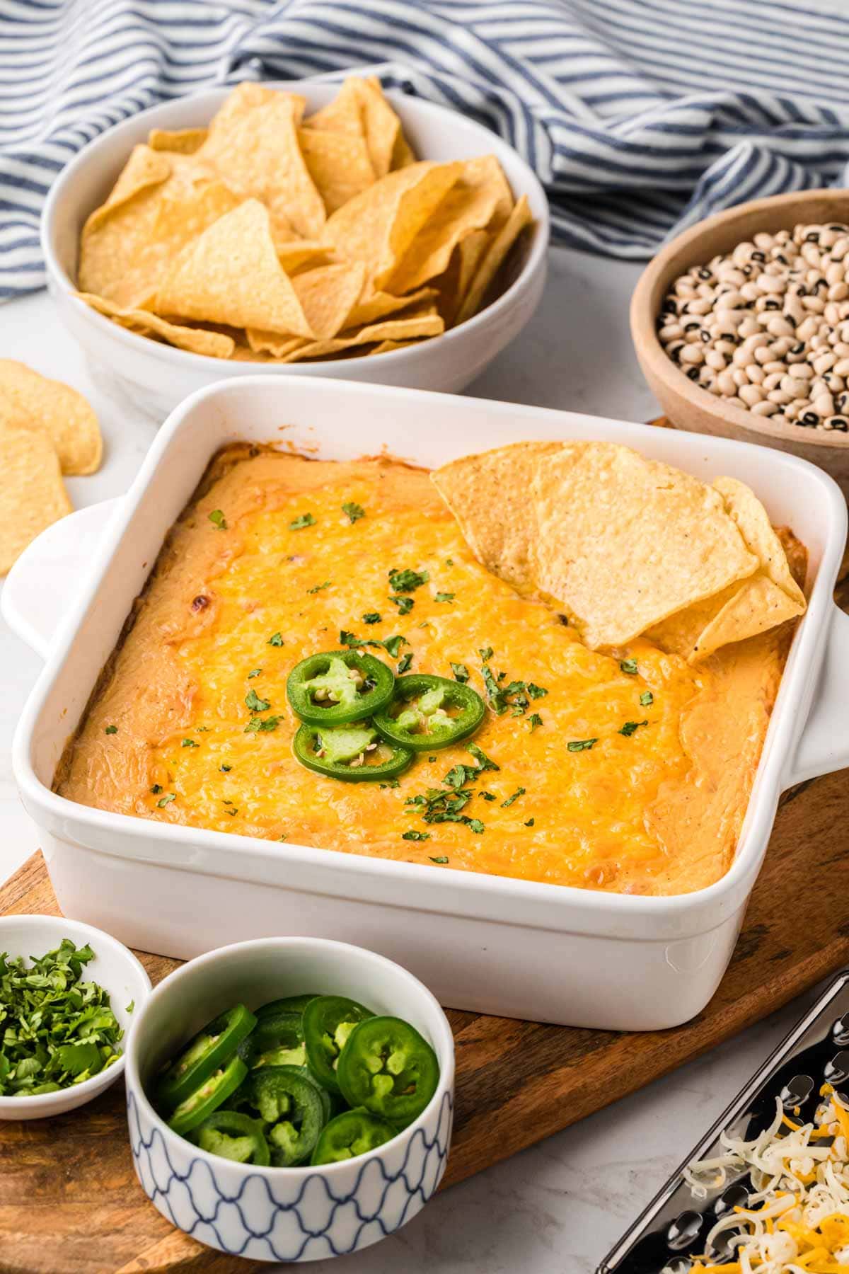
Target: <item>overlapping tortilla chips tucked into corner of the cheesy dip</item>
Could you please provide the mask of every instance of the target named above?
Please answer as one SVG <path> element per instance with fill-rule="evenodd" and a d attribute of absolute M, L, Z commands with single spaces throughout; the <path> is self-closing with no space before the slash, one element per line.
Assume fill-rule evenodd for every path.
<path fill-rule="evenodd" d="M 745 484 L 708 487 L 630 447 L 527 442 L 433 475 L 475 557 L 554 599 L 591 648 L 645 633 L 694 662 L 804 610 Z"/>

